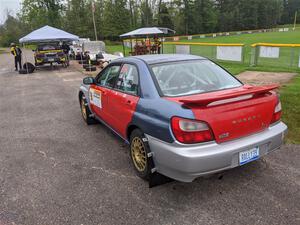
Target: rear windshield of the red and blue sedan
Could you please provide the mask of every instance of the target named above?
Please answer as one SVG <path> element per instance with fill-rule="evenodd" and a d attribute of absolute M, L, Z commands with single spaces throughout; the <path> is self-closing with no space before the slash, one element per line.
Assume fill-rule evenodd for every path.
<path fill-rule="evenodd" d="M 241 82 L 209 60 L 151 66 L 164 96 L 176 97 L 241 86 Z"/>

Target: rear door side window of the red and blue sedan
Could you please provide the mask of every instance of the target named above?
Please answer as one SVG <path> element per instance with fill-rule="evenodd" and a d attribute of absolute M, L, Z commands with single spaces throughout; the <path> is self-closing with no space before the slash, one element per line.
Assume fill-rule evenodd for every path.
<path fill-rule="evenodd" d="M 120 71 L 116 89 L 129 94 L 138 94 L 139 78 L 137 68 L 134 65 L 124 64 Z"/>

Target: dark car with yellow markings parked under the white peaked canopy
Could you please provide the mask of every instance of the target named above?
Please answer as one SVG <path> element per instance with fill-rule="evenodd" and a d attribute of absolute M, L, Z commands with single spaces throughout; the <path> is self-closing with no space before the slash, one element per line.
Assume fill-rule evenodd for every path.
<path fill-rule="evenodd" d="M 54 43 L 39 44 L 34 52 L 34 61 L 36 66 L 53 63 L 67 65 L 68 58 L 63 49 Z"/>

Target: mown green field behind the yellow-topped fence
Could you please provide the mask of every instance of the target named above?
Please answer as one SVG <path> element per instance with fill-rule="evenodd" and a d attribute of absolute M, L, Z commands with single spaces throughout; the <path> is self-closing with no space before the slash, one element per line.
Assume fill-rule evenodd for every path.
<path fill-rule="evenodd" d="M 252 54 L 251 45 L 259 42 L 266 43 L 280 43 L 280 44 L 295 44 L 300 43 L 300 28 L 295 31 L 289 32 L 267 32 L 267 33 L 253 33 L 253 34 L 241 34 L 231 36 L 219 36 L 219 37 L 207 37 L 207 38 L 195 38 L 187 40 L 187 38 L 181 38 L 180 42 L 206 42 L 206 43 L 241 43 L 244 44 L 244 69 L 248 69 L 250 65 L 250 58 Z M 171 52 L 173 46 L 166 46 L 166 51 Z M 191 46 L 191 53 L 195 55 L 202 55 L 214 60 L 216 47 L 211 46 Z M 174 50 L 173 50 L 174 51 Z M 293 52 L 292 52 L 293 51 Z M 280 48 L 280 57 L 278 59 L 259 58 L 257 62 L 258 67 L 264 67 L 266 71 L 272 71 L 274 67 L 278 67 L 279 71 L 297 71 L 298 60 L 300 56 L 300 48 L 285 47 Z"/>

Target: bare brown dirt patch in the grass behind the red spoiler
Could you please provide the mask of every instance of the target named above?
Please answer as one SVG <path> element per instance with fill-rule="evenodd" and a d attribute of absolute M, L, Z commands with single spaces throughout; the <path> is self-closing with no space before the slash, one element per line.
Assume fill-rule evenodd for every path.
<path fill-rule="evenodd" d="M 245 84 L 263 85 L 263 84 L 279 84 L 283 85 L 289 82 L 297 73 L 278 73 L 278 72 L 259 72 L 245 71 L 237 75 Z"/>

